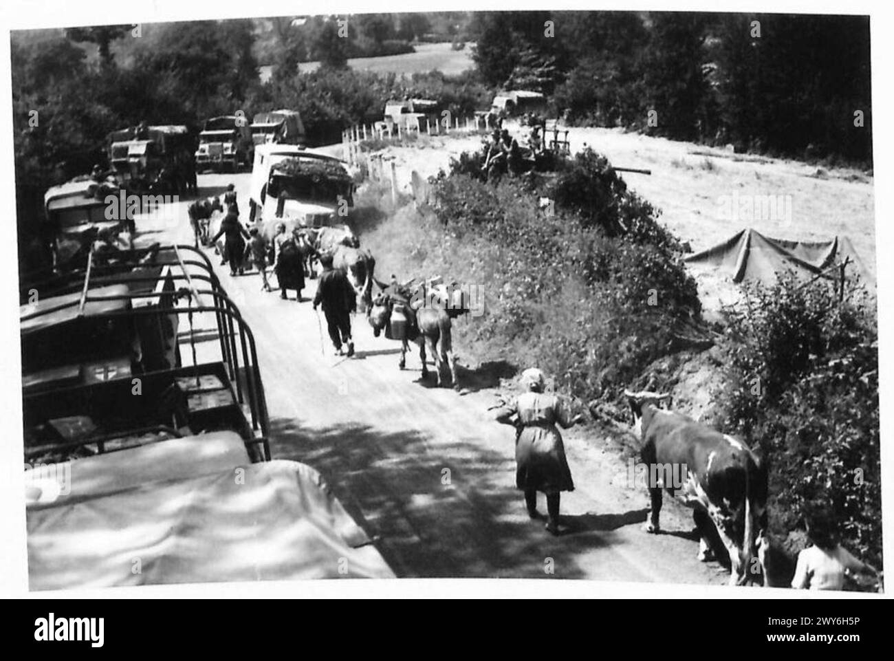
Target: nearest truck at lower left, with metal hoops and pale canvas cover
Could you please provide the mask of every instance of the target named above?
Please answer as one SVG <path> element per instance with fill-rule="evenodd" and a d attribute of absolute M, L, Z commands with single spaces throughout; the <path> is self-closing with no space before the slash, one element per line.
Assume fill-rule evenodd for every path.
<path fill-rule="evenodd" d="M 201 250 L 131 250 L 37 290 L 20 310 L 30 589 L 393 577 L 316 470 L 273 460 L 254 335 Z"/>

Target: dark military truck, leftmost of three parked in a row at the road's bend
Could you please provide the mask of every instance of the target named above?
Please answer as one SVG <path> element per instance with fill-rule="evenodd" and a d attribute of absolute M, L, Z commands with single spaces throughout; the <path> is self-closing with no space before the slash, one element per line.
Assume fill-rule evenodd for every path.
<path fill-rule="evenodd" d="M 135 195 L 181 195 L 195 178 L 194 141 L 185 126 L 139 126 L 112 131 L 108 160 L 122 188 Z"/>

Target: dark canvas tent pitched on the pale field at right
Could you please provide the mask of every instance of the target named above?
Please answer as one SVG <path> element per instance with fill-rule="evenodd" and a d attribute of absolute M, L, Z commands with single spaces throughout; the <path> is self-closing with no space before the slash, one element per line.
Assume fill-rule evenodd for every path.
<path fill-rule="evenodd" d="M 848 278 L 859 275 L 869 288 L 875 278 L 856 254 L 846 236 L 828 241 L 805 242 L 772 239 L 753 229 L 744 229 L 730 239 L 685 258 L 687 264 L 714 267 L 734 283 L 772 284 L 789 270 L 797 276 L 839 277 L 839 266 L 847 261 Z"/>

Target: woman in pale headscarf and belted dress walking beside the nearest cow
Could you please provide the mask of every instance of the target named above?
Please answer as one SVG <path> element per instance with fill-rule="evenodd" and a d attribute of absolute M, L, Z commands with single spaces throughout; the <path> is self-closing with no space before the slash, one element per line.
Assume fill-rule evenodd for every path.
<path fill-rule="evenodd" d="M 546 530 L 558 535 L 560 494 L 573 491 L 574 481 L 556 425 L 569 428 L 580 422 L 583 415 L 573 415 L 568 403 L 559 395 L 544 393 L 544 373 L 539 369 L 522 372 L 521 383 L 527 392 L 520 394 L 514 402 L 499 407 L 495 418 L 517 430 L 515 484 L 525 493 L 528 515 L 532 519 L 540 518 L 537 492 L 543 492 L 548 514 Z"/>

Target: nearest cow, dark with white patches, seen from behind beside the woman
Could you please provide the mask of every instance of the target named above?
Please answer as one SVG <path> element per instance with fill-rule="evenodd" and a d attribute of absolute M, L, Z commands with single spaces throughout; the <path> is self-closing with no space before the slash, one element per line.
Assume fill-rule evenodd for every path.
<path fill-rule="evenodd" d="M 711 559 L 713 528 L 730 555 L 730 584 L 760 582 L 756 550 L 766 529 L 767 473 L 747 445 L 696 422 L 659 408 L 668 395 L 625 391 L 634 429 L 642 439 L 642 462 L 649 475 L 679 474 L 682 484 L 648 484 L 652 509 L 645 530 L 658 532 L 662 490 L 693 508 L 701 538 L 698 558 Z M 671 473 L 672 470 L 672 473 Z"/>

